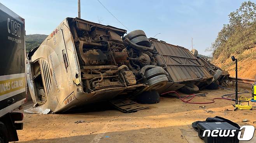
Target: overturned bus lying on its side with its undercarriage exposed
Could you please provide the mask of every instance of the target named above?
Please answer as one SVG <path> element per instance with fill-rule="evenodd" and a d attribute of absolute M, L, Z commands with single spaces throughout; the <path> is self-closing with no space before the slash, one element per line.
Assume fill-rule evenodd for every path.
<path fill-rule="evenodd" d="M 63 20 L 28 53 L 33 102 L 62 112 L 117 95 L 129 98 L 212 81 L 188 49 L 148 39 L 141 30 L 126 32 L 79 18 Z"/>

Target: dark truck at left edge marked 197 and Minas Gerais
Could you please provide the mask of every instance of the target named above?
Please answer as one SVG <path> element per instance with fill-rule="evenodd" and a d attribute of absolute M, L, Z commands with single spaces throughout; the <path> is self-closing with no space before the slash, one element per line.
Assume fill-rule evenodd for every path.
<path fill-rule="evenodd" d="M 0 3 L 0 143 L 18 141 L 26 102 L 25 20 Z"/>

